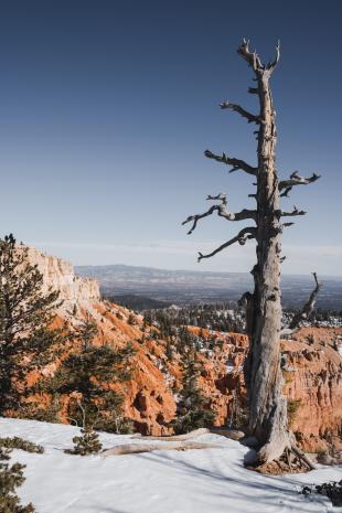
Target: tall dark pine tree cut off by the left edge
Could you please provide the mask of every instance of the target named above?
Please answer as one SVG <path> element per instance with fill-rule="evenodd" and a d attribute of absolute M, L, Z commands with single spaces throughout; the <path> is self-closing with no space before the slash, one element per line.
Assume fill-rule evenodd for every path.
<path fill-rule="evenodd" d="M 43 276 L 28 260 L 28 248 L 12 235 L 0 239 L 0 415 L 22 410 L 32 393 L 25 382 L 32 370 L 52 361 L 52 345 L 61 342 L 53 330 L 58 293 L 42 292 Z"/>

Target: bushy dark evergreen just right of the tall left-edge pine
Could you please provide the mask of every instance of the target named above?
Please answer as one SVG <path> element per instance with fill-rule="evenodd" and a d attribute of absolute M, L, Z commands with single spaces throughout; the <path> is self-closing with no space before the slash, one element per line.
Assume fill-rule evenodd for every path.
<path fill-rule="evenodd" d="M 83 429 L 124 431 L 121 405 L 124 397 L 113 388 L 115 382 L 130 377 L 131 344 L 114 349 L 110 344 L 95 345 L 97 327 L 85 321 L 76 334 L 77 352 L 70 353 L 51 381 L 54 394 L 70 395 L 68 417 Z"/>

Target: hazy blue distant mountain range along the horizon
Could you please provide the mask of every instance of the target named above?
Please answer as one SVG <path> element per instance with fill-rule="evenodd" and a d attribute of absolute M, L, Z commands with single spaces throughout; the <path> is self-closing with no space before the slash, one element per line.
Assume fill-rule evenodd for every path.
<path fill-rule="evenodd" d="M 175 304 L 236 301 L 253 289 L 248 272 L 210 272 L 168 270 L 125 265 L 78 266 L 78 276 L 98 280 L 107 296 L 140 295 L 157 301 Z M 324 284 L 318 307 L 342 310 L 342 277 L 321 276 Z M 285 306 L 298 306 L 313 289 L 313 279 L 300 275 L 282 275 L 281 290 Z"/>

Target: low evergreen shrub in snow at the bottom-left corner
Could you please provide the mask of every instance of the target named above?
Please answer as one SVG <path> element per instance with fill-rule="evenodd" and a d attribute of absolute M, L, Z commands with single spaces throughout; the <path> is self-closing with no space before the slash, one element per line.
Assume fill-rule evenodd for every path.
<path fill-rule="evenodd" d="M 25 506 L 20 504 L 15 489 L 20 487 L 24 466 L 20 463 L 9 464 L 10 450 L 0 447 L 0 512 L 1 513 L 33 513 L 32 504 Z"/>

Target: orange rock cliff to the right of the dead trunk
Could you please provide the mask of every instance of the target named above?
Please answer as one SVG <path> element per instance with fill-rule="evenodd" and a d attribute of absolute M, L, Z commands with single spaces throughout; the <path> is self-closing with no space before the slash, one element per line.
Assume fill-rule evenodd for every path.
<path fill-rule="evenodd" d="M 291 427 L 312 452 L 342 449 L 341 329 L 302 328 L 285 346 L 285 392 L 297 404 Z"/>

